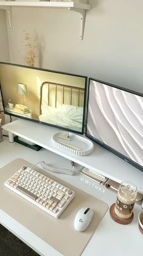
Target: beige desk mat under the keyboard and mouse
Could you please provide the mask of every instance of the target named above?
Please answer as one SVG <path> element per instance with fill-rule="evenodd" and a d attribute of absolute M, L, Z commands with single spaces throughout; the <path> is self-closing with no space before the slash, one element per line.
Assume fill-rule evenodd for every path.
<path fill-rule="evenodd" d="M 16 159 L 0 169 L 1 210 L 61 252 L 61 254 L 65 256 L 81 255 L 99 222 L 107 212 L 108 205 L 49 174 L 48 177 L 65 185 L 65 187 L 71 188 L 76 193 L 75 198 L 61 216 L 55 219 L 4 186 L 5 180 L 18 171 L 22 165 L 32 166 L 31 163 L 23 159 Z M 45 174 L 42 169 L 34 169 Z M 95 215 L 88 228 L 84 232 L 78 232 L 74 229 L 73 223 L 76 213 L 82 207 L 90 207 L 95 211 Z"/>

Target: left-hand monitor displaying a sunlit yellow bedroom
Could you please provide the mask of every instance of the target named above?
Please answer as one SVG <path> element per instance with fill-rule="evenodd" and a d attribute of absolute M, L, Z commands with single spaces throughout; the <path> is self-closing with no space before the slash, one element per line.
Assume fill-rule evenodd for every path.
<path fill-rule="evenodd" d="M 0 62 L 4 111 L 83 133 L 87 77 Z"/>

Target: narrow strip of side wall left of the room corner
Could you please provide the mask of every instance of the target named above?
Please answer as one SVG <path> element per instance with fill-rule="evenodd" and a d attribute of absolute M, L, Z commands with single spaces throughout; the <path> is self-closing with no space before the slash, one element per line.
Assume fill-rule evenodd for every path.
<path fill-rule="evenodd" d="M 0 9 L 0 62 L 9 62 L 10 54 L 8 47 L 7 20 L 5 10 Z"/>

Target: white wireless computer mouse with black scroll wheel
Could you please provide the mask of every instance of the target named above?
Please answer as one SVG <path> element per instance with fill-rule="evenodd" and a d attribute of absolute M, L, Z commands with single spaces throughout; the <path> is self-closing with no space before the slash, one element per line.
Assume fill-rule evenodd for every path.
<path fill-rule="evenodd" d="M 88 207 L 82 207 L 75 216 L 74 226 L 75 229 L 79 232 L 87 229 L 90 224 L 91 219 L 93 218 L 94 212 Z"/>

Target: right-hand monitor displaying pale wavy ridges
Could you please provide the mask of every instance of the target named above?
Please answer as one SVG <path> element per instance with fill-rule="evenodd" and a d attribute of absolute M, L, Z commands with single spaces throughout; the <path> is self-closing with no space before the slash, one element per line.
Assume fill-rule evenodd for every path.
<path fill-rule="evenodd" d="M 143 171 L 143 94 L 89 79 L 86 136 Z"/>

